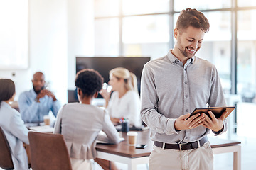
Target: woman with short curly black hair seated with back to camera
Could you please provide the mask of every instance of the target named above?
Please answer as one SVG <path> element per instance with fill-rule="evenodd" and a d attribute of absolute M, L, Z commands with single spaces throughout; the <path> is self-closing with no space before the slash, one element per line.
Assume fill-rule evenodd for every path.
<path fill-rule="evenodd" d="M 76 75 L 80 103 L 65 104 L 58 112 L 54 133 L 63 135 L 70 154 L 73 170 L 92 169 L 95 159 L 96 140 L 100 130 L 107 136 L 105 140 L 113 144 L 119 142 L 119 134 L 105 110 L 92 105 L 102 89 L 102 76 L 93 69 L 83 69 Z"/>

